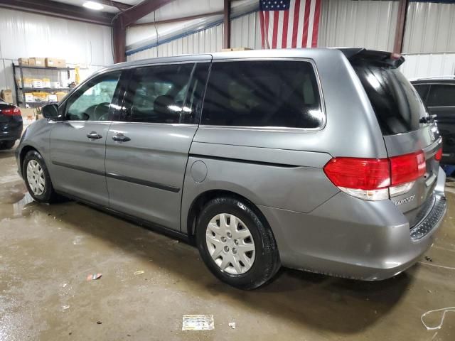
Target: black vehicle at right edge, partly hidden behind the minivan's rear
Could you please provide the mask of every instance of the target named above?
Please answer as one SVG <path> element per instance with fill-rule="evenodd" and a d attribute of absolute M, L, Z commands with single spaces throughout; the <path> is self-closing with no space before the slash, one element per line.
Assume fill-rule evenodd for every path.
<path fill-rule="evenodd" d="M 455 164 L 455 75 L 419 78 L 411 83 L 427 104 L 429 113 L 436 115 L 434 119 L 444 142 L 441 163 Z"/>

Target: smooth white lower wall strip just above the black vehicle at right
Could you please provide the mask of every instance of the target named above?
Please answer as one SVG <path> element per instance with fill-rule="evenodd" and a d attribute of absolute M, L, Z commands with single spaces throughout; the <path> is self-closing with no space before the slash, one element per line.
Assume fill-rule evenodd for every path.
<path fill-rule="evenodd" d="M 400 67 L 407 78 L 455 75 L 455 53 L 405 55 Z"/>

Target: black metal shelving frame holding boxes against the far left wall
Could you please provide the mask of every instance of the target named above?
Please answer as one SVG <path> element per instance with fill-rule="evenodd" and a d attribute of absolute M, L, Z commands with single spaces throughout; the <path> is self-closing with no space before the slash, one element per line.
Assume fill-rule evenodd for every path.
<path fill-rule="evenodd" d="M 39 66 L 26 66 L 26 65 L 15 65 L 13 63 L 13 77 L 14 77 L 14 87 L 16 88 L 16 104 L 20 106 L 23 104 L 25 106 L 28 104 L 31 107 L 41 107 L 45 104 L 55 103 L 49 101 L 43 102 L 26 102 L 26 92 L 41 92 L 41 91 L 70 91 L 70 87 L 24 87 L 23 86 L 23 70 L 31 69 L 31 70 L 50 70 L 50 71 L 74 71 L 73 67 L 39 67 Z M 16 82 L 16 72 L 19 72 L 21 77 L 21 84 L 19 85 Z"/>

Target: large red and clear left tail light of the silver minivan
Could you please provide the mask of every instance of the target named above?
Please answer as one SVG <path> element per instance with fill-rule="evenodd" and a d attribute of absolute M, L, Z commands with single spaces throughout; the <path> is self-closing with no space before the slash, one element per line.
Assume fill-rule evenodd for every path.
<path fill-rule="evenodd" d="M 332 158 L 323 168 L 333 185 L 363 200 L 408 192 L 426 171 L 423 151 L 392 158 Z"/>

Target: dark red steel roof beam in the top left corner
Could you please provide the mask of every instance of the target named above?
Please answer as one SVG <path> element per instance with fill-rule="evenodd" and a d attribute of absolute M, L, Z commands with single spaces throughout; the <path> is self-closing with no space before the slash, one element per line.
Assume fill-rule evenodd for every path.
<path fill-rule="evenodd" d="M 0 0 L 0 7 L 106 26 L 111 26 L 114 17 L 110 13 L 90 11 L 50 0 Z"/>

